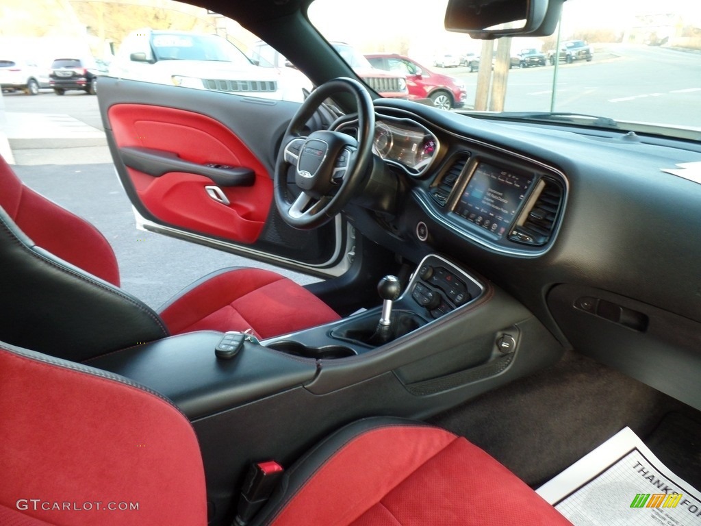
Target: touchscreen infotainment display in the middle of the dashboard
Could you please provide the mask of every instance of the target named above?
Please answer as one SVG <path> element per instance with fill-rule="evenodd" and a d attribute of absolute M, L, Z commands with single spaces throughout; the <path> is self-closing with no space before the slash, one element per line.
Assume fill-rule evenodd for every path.
<path fill-rule="evenodd" d="M 501 238 L 532 182 L 533 175 L 479 163 L 454 212 Z"/>

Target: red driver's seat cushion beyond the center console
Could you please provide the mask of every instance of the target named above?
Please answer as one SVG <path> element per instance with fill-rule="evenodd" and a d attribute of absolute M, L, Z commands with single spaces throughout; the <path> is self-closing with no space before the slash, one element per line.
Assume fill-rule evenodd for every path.
<path fill-rule="evenodd" d="M 224 269 L 205 276 L 165 306 L 171 334 L 246 330 L 270 338 L 339 320 L 339 315 L 294 281 L 261 269 Z"/>

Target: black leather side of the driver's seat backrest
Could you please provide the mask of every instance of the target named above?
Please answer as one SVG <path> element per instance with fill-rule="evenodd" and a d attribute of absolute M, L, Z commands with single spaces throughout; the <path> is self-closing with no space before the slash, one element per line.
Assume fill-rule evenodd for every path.
<path fill-rule="evenodd" d="M 36 247 L 0 208 L 0 339 L 81 361 L 168 336 L 139 299 Z"/>

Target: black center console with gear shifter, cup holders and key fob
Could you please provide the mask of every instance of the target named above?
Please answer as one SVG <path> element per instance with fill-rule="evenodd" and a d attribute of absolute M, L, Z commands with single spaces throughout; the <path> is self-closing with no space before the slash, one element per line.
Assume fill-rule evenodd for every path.
<path fill-rule="evenodd" d="M 210 524 L 230 524 L 252 461 L 290 465 L 340 426 L 372 415 L 426 418 L 528 375 L 562 348 L 515 299 L 428 255 L 383 305 L 258 342 L 191 332 L 94 358 L 170 398 L 203 454 Z"/>

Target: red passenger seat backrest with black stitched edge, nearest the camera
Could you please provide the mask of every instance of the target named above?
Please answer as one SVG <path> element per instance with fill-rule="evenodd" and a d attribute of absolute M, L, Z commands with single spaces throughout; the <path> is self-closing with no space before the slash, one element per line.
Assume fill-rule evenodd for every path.
<path fill-rule="evenodd" d="M 206 525 L 197 438 L 167 398 L 3 343 L 0 377 L 0 506 L 10 508 L 0 518 L 16 511 L 52 525 Z"/>

